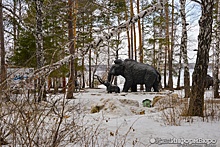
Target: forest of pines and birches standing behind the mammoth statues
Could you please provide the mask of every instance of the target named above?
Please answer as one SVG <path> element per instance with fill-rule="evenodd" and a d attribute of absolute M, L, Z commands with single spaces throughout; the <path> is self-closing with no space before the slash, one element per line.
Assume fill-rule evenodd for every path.
<path fill-rule="evenodd" d="M 161 91 L 184 90 L 187 115 L 203 117 L 210 67 L 213 98 L 220 97 L 219 32 L 219 0 L 0 0 L 0 101 L 24 87 L 39 103 L 51 91 L 75 99 L 79 87 L 100 84 L 99 68 L 107 79 L 115 60 L 129 58 L 160 73 Z"/>

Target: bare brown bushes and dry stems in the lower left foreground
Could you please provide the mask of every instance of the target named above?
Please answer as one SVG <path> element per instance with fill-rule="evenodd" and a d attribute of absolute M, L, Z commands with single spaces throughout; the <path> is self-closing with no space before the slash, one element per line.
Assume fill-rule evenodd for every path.
<path fill-rule="evenodd" d="M 84 106 L 65 99 L 65 94 L 51 94 L 41 102 L 26 90 L 8 95 L 10 101 L 0 103 L 0 146 L 123 146 L 131 131 L 120 134 L 118 128 L 110 142 L 102 128 L 106 119 L 88 121 Z"/>

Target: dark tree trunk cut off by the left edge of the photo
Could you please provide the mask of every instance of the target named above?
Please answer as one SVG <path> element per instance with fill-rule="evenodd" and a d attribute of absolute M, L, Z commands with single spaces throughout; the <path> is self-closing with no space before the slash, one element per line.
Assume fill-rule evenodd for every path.
<path fill-rule="evenodd" d="M 1 55 L 1 63 L 0 63 L 0 100 L 5 99 L 6 101 L 9 100 L 9 98 L 6 96 L 5 98 L 2 98 L 3 96 L 3 90 L 7 89 L 7 82 L 5 81 L 7 78 L 7 68 L 5 64 L 5 43 L 4 43 L 4 26 L 3 26 L 3 10 L 2 10 L 2 0 L 0 0 L 0 55 Z M 6 92 L 7 93 L 7 92 Z"/>

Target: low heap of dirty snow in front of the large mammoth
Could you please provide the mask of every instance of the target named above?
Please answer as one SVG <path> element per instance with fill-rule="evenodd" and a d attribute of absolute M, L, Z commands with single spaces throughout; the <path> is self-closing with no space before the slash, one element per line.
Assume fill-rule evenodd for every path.
<path fill-rule="evenodd" d="M 92 104 L 91 113 L 103 112 L 117 116 L 131 116 L 145 114 L 145 110 L 139 107 L 139 102 L 129 99 L 102 98 Z"/>

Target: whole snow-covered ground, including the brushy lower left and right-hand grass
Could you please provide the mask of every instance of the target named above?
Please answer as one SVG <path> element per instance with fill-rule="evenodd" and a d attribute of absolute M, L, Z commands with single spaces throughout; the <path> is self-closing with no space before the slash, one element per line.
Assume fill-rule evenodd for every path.
<path fill-rule="evenodd" d="M 123 82 L 119 83 L 122 90 Z M 34 136 L 40 145 L 47 143 L 45 146 L 51 145 L 51 138 L 54 139 L 53 134 L 63 117 L 59 136 L 66 136 L 60 140 L 59 146 L 220 147 L 220 99 L 208 103 L 213 93 L 211 90 L 206 91 L 207 117 L 189 117 L 184 116 L 188 99 L 183 98 L 183 95 L 183 91 L 107 93 L 106 87 L 99 85 L 96 89 L 86 88 L 74 93 L 75 99 L 67 100 L 64 94 L 52 93 L 48 95 L 47 102 L 32 105 L 25 100 L 27 95 L 14 94 L 17 98 L 15 103 L 3 104 L 0 109 L 3 116 L 0 126 L 8 130 L 18 125 L 15 132 L 24 134 L 29 129 L 33 130 L 26 135 Z M 152 100 L 154 107 L 144 107 L 142 101 L 145 99 Z M 65 111 L 62 105 L 65 105 Z M 42 121 L 36 121 L 36 118 Z M 22 136 L 22 133 L 12 135 L 6 140 L 9 145 L 29 144 Z M 77 136 L 80 139 L 77 140 Z M 71 138 L 74 139 L 71 141 Z"/>

